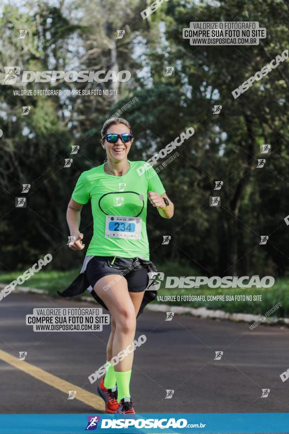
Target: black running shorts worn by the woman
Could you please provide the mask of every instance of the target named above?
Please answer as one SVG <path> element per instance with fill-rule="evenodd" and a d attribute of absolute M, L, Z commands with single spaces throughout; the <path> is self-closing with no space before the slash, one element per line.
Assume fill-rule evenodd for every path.
<path fill-rule="evenodd" d="M 94 256 L 90 259 L 86 276 L 92 288 L 99 279 L 109 274 L 123 276 L 128 282 L 129 292 L 142 292 L 149 283 L 148 269 L 137 261 L 137 257 L 114 259 L 114 256 Z"/>

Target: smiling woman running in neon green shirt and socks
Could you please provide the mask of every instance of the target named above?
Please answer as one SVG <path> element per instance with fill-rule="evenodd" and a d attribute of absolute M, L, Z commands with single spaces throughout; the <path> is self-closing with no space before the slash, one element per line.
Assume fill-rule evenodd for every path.
<path fill-rule="evenodd" d="M 174 206 L 152 166 L 128 160 L 133 138 L 127 120 L 108 119 L 100 143 L 107 161 L 80 175 L 68 205 L 67 223 L 70 235 L 75 237 L 69 247 L 84 249 L 80 213 L 90 200 L 94 235 L 82 272 L 96 300 L 111 314 L 107 367 L 98 394 L 104 399 L 106 412 L 134 413 L 129 392 L 133 352 L 115 366 L 110 361 L 132 344 L 136 316 L 141 306 L 151 301 L 144 295 L 149 283 L 148 264 L 153 264 L 146 230 L 147 199 L 163 218 L 173 216 Z M 82 290 L 67 294 L 79 292 Z"/>

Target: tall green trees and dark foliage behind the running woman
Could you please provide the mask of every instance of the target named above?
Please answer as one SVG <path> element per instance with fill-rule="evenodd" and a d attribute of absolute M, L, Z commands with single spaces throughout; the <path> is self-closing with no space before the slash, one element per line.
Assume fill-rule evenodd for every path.
<path fill-rule="evenodd" d="M 286 276 L 288 228 L 288 62 L 283 62 L 238 99 L 231 91 L 254 75 L 288 45 L 288 4 L 249 0 L 165 2 L 150 19 L 140 19 L 145 1 L 31 2 L 3 6 L 0 70 L 129 70 L 118 83 L 119 95 L 107 97 L 15 96 L 0 93 L 0 181 L 4 199 L 0 219 L 3 269 L 31 266 L 54 254 L 54 269 L 68 270 L 81 258 L 66 246 L 65 212 L 79 174 L 104 159 L 99 144 L 104 120 L 133 97 L 122 114 L 133 126 L 129 158 L 148 159 L 188 127 L 195 134 L 180 156 L 160 172 L 175 216 L 148 216 L 151 257 L 184 261 L 200 275 L 260 274 Z M 112 19 L 113 11 L 113 19 Z M 75 18 L 77 17 L 77 19 Z M 193 18 L 192 18 L 193 17 Z M 256 46 L 191 46 L 182 38 L 190 21 L 258 21 L 267 38 Z M 25 39 L 18 31 L 28 28 Z M 125 36 L 116 39 L 116 31 Z M 175 76 L 163 74 L 175 67 Z M 116 85 L 116 84 L 115 84 Z M 27 89 L 44 89 L 28 83 Z M 112 83 L 65 83 L 54 89 L 112 88 Z M 213 106 L 222 112 L 213 115 Z M 22 116 L 23 106 L 31 113 Z M 259 146 L 272 144 L 264 169 L 256 169 Z M 70 168 L 71 145 L 80 150 Z M 163 160 L 162 160 L 163 161 Z M 161 162 L 162 162 L 161 161 Z M 221 208 L 209 207 L 214 181 L 224 181 Z M 15 209 L 22 183 L 31 183 L 28 207 Z M 89 207 L 81 230 L 88 246 L 92 234 Z M 162 235 L 171 234 L 168 246 Z M 259 246 L 260 235 L 270 235 Z M 77 257 L 77 259 L 76 259 Z"/>

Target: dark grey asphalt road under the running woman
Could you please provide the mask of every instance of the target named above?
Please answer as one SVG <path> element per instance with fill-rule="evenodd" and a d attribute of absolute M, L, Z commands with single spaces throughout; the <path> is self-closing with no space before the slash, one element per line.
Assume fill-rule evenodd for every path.
<path fill-rule="evenodd" d="M 105 362 L 109 326 L 101 332 L 33 332 L 27 314 L 41 307 L 93 307 L 91 303 L 12 293 L 0 301 L 0 350 L 46 373 L 96 393 L 88 376 Z M 136 337 L 147 341 L 134 353 L 131 395 L 140 413 L 289 412 L 289 329 L 147 312 Z M 223 351 L 214 360 L 215 351 Z M 3 354 L 3 353 L 2 353 Z M 65 389 L 65 385 L 64 385 Z M 261 398 L 262 389 L 270 389 Z M 165 398 L 166 390 L 174 390 Z M 88 413 L 94 406 L 68 400 L 68 391 L 46 384 L 0 357 L 1 413 Z M 98 411 L 103 410 L 97 408 Z"/>

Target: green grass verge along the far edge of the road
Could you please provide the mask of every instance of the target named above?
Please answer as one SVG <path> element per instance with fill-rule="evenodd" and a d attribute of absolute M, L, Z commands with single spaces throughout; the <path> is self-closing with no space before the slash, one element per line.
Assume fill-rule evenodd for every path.
<path fill-rule="evenodd" d="M 158 269 L 164 273 L 164 276 L 198 276 L 200 273 L 193 270 L 186 265 L 177 265 L 176 263 L 167 262 L 165 264 L 158 264 Z M 15 280 L 23 271 L 15 272 L 2 272 L 0 273 L 0 283 L 8 284 Z M 79 269 L 73 269 L 69 271 L 49 271 L 41 270 L 40 273 L 34 274 L 23 286 L 31 288 L 44 289 L 49 295 L 58 297 L 57 290 L 65 289 L 78 275 Z M 275 312 L 274 316 L 288 317 L 289 316 L 289 279 L 281 278 L 275 281 L 272 288 L 255 288 L 252 289 L 211 289 L 203 286 L 202 289 L 194 288 L 164 288 L 164 284 L 161 285 L 158 290 L 159 296 L 175 295 L 176 300 L 173 301 L 161 301 L 156 300 L 154 303 L 168 304 L 184 307 L 206 307 L 207 309 L 223 310 L 228 313 L 250 313 L 255 315 L 264 315 L 277 303 L 281 303 L 281 307 Z M 182 301 L 182 296 L 187 295 L 204 295 L 205 301 Z M 212 295 L 224 295 L 225 297 L 232 298 L 228 301 L 213 300 L 209 301 L 207 296 Z M 237 299 L 236 296 L 245 296 L 245 300 Z M 178 300 L 180 296 L 180 300 Z M 247 296 L 252 296 L 252 300 Z M 257 296 L 261 296 L 261 299 L 256 299 Z M 254 299 L 255 297 L 255 299 Z M 243 298 L 243 297 L 239 297 Z"/>

